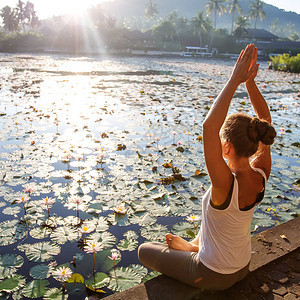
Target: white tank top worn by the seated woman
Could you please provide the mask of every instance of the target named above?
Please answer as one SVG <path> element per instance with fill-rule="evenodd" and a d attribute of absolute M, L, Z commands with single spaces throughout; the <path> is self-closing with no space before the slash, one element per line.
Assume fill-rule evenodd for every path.
<path fill-rule="evenodd" d="M 253 168 L 267 182 L 261 169 Z M 202 223 L 199 236 L 199 259 L 209 269 L 221 274 L 233 274 L 244 268 L 251 257 L 250 225 L 255 206 L 240 210 L 238 181 L 234 175 L 230 204 L 220 210 L 211 206 L 211 187 L 202 200 Z"/>

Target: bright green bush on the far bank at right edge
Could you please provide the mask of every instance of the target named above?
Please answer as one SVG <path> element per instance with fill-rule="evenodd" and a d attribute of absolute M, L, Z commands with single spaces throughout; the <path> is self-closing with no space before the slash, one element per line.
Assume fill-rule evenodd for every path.
<path fill-rule="evenodd" d="M 278 71 L 300 73 L 300 53 L 297 56 L 284 53 L 271 57 L 270 68 Z"/>

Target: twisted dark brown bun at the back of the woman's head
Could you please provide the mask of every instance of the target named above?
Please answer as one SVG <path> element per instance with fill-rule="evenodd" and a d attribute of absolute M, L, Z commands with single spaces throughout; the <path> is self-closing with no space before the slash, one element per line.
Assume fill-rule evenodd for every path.
<path fill-rule="evenodd" d="M 267 121 L 255 117 L 250 121 L 248 134 L 253 141 L 261 141 L 265 145 L 272 145 L 276 137 L 276 130 Z"/>

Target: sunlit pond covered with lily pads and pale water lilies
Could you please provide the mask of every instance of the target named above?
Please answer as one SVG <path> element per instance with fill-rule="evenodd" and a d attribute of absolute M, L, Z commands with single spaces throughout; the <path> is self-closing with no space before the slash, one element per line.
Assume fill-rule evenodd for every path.
<path fill-rule="evenodd" d="M 201 124 L 233 64 L 0 56 L 1 299 L 104 297 L 158 275 L 137 247 L 196 234 Z M 260 69 L 278 137 L 252 233 L 299 215 L 300 78 Z M 244 86 L 235 111 L 253 114 Z"/>

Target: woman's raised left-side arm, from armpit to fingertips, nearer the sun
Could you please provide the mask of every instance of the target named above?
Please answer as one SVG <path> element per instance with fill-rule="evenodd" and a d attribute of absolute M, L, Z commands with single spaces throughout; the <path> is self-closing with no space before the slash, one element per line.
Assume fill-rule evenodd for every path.
<path fill-rule="evenodd" d="M 203 123 L 203 144 L 206 167 L 212 183 L 212 201 L 216 205 L 226 199 L 232 182 L 232 174 L 223 159 L 220 129 L 227 116 L 228 108 L 237 87 L 253 77 L 254 68 L 250 68 L 254 54 L 254 45 L 243 50 L 234 66 L 230 79 L 214 101 Z M 214 200 L 221 199 L 221 203 Z"/>

